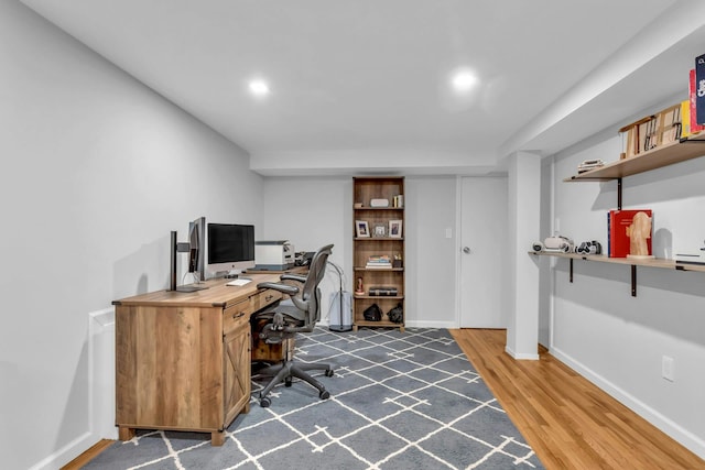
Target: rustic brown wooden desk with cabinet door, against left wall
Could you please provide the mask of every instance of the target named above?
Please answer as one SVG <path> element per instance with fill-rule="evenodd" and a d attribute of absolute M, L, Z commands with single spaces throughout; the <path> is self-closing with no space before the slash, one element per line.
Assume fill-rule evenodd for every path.
<path fill-rule="evenodd" d="M 250 402 L 250 315 L 282 294 L 258 289 L 279 274 L 252 274 L 245 286 L 207 281 L 193 293 L 160 291 L 116 306 L 116 425 L 206 431 L 212 444 Z"/>

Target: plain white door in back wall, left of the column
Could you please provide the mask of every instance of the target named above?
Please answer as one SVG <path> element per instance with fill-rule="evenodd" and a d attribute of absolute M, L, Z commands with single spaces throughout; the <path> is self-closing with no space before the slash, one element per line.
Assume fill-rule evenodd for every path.
<path fill-rule="evenodd" d="M 507 328 L 507 177 L 464 177 L 460 328 Z"/>

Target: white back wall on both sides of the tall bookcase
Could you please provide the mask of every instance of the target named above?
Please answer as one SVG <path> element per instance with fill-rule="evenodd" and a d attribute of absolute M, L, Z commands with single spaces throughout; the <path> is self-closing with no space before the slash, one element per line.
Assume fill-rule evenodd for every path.
<path fill-rule="evenodd" d="M 455 177 L 405 178 L 406 326 L 454 327 Z M 272 177 L 264 182 L 263 239 L 290 240 L 296 251 L 335 243 L 332 261 L 345 270 L 352 291 L 352 178 Z M 323 298 L 337 289 L 337 275 L 326 280 Z M 326 303 L 324 302 L 324 307 Z M 327 309 L 322 313 L 326 323 Z"/>

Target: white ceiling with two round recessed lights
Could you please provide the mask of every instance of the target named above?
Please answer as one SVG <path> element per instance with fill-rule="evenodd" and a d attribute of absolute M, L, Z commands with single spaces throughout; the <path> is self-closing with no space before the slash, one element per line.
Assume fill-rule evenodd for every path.
<path fill-rule="evenodd" d="M 23 0 L 263 175 L 486 174 L 669 99 L 699 0 Z M 477 86 L 454 92 L 466 67 Z M 254 77 L 267 97 L 248 91 Z"/>

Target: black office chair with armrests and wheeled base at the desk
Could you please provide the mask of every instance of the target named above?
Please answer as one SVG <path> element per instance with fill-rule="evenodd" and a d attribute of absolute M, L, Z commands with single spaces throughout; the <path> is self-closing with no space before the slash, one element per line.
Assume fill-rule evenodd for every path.
<path fill-rule="evenodd" d="M 299 378 L 308 382 L 318 390 L 318 397 L 326 400 L 330 396 L 325 386 L 306 373 L 311 370 L 324 370 L 326 376 L 333 376 L 333 369 L 324 363 L 299 363 L 293 361 L 293 339 L 299 332 L 313 331 L 321 319 L 321 289 L 318 284 L 326 273 L 328 255 L 333 244 L 319 249 L 313 255 L 306 276 L 297 274 L 282 274 L 281 281 L 294 281 L 301 287 L 284 283 L 260 283 L 259 288 L 273 288 L 290 295 L 290 299 L 283 300 L 279 306 L 257 315 L 257 319 L 268 319 L 260 332 L 260 338 L 269 345 L 283 342 L 284 360 L 281 363 L 265 367 L 257 371 L 260 375 L 273 375 L 273 379 L 260 392 L 260 406 L 268 407 L 271 403 L 269 393 L 276 384 L 284 382 L 291 386 L 292 378 Z"/>

